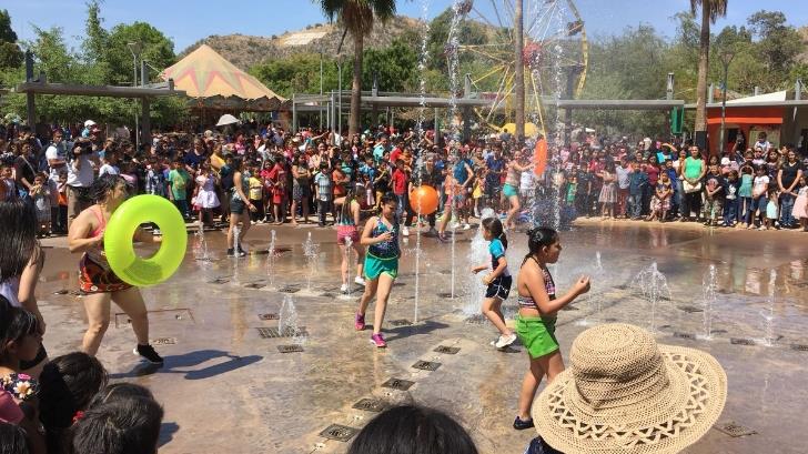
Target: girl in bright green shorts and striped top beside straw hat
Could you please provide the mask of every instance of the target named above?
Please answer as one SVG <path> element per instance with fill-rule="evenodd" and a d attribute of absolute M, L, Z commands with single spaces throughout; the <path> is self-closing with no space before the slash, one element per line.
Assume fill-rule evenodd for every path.
<path fill-rule="evenodd" d="M 534 228 L 527 232 L 529 252 L 522 262 L 516 289 L 519 292 L 519 315 L 516 319 L 516 334 L 531 359 L 531 369 L 525 373 L 519 394 L 519 414 L 514 428 L 533 427 L 531 406 L 542 377 L 547 383 L 564 371 L 564 360 L 555 337 L 556 314 L 562 307 L 589 291 L 589 278 L 580 276 L 573 289 L 556 299 L 555 282 L 547 270 L 548 263 L 556 263 L 562 252 L 558 232 L 549 228 Z"/>

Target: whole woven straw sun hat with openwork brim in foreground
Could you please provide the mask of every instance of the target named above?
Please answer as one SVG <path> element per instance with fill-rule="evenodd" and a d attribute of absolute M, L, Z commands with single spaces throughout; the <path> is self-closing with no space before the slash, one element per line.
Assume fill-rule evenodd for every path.
<path fill-rule="evenodd" d="M 569 363 L 533 404 L 539 435 L 566 454 L 677 453 L 713 426 L 727 398 L 711 355 L 657 345 L 629 324 L 584 331 Z"/>

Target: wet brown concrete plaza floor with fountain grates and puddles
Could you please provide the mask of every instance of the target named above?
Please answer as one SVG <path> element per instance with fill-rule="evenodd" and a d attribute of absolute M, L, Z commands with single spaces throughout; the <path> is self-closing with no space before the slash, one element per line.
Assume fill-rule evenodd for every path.
<path fill-rule="evenodd" d="M 238 260 L 224 255 L 223 232 L 208 232 L 210 261 L 198 260 L 204 253 L 199 238 L 192 236 L 180 271 L 165 283 L 143 289 L 151 339 L 161 343 L 156 349 L 165 357 L 162 369 L 138 362 L 125 315 L 113 316 L 99 357 L 113 380 L 147 385 L 162 402 L 161 453 L 344 453 L 346 443 L 321 433 L 332 424 L 361 428 L 378 405 L 396 402 L 456 415 L 481 453 L 524 451 L 535 433 L 514 431 L 511 423 L 527 355 L 518 345 L 505 352 L 491 347 L 495 330 L 472 315 L 478 302 L 465 295 L 473 282 L 466 270 L 474 229 L 457 234 L 454 299 L 444 295 L 452 280 L 451 244 L 422 238 L 414 324 L 407 324 L 416 317 L 414 254 L 410 251 L 402 259 L 384 327 L 386 350 L 368 342 L 370 331 L 353 329 L 361 289 L 340 295 L 334 230 L 272 229 L 279 251 L 272 263 L 265 253 L 267 225 L 249 232 L 246 249 L 252 253 Z M 302 253 L 309 232 L 320 244 L 311 290 L 311 269 Z M 526 252 L 525 236 L 514 233 L 509 240 L 508 260 L 515 271 Z M 711 430 L 687 452 L 806 452 L 808 234 L 583 221 L 564 232 L 562 242 L 565 249 L 554 270 L 562 291 L 578 274 L 594 273 L 590 296 L 559 314 L 557 335 L 565 359 L 573 339 L 587 325 L 620 321 L 650 326 L 650 304 L 632 282 L 657 262 L 671 290 L 670 299 L 654 311 L 658 342 L 715 355 L 729 381 L 719 423 L 756 432 L 733 437 Z M 411 236 L 402 245 L 411 250 L 414 244 Z M 46 240 L 46 245 L 50 248 L 38 293 L 48 322 L 44 342 L 55 356 L 79 347 L 85 320 L 81 296 L 69 293 L 77 289 L 78 256 L 68 253 L 63 239 Z M 594 266 L 597 252 L 603 272 Z M 706 341 L 700 339 L 701 282 L 710 264 L 716 266 L 718 296 L 711 311 L 713 340 Z M 273 334 L 264 329 L 277 327 L 279 321 L 261 314 L 279 314 L 286 295 L 307 336 L 264 339 L 262 334 Z M 508 312 L 515 309 L 513 295 L 506 306 Z M 112 312 L 120 310 L 113 306 Z M 372 312 L 368 315 L 372 320 Z M 767 336 L 775 339 L 772 346 L 762 345 Z M 280 345 L 303 351 L 281 353 Z M 440 366 L 413 367 L 418 361 Z M 394 387 L 385 386 L 391 379 Z M 339 437 L 350 431 L 325 434 Z"/>

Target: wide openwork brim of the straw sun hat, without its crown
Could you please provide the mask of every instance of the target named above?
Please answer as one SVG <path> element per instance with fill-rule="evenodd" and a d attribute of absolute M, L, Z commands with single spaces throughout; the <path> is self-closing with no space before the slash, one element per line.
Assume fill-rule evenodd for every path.
<path fill-rule="evenodd" d="M 566 454 L 674 454 L 696 443 L 724 410 L 727 375 L 706 352 L 674 345 L 658 347 L 674 397 L 668 405 L 644 408 L 642 422 L 634 421 L 636 412 L 620 415 L 615 408 L 585 414 L 572 402 L 576 384 L 567 369 L 533 403 L 538 434 Z"/>

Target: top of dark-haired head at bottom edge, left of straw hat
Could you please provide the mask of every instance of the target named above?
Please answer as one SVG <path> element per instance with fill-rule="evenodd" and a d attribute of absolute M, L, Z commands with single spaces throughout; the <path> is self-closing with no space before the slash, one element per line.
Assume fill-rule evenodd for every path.
<path fill-rule="evenodd" d="M 347 454 L 477 454 L 468 433 L 445 413 L 414 405 L 390 408 L 374 417 Z"/>

